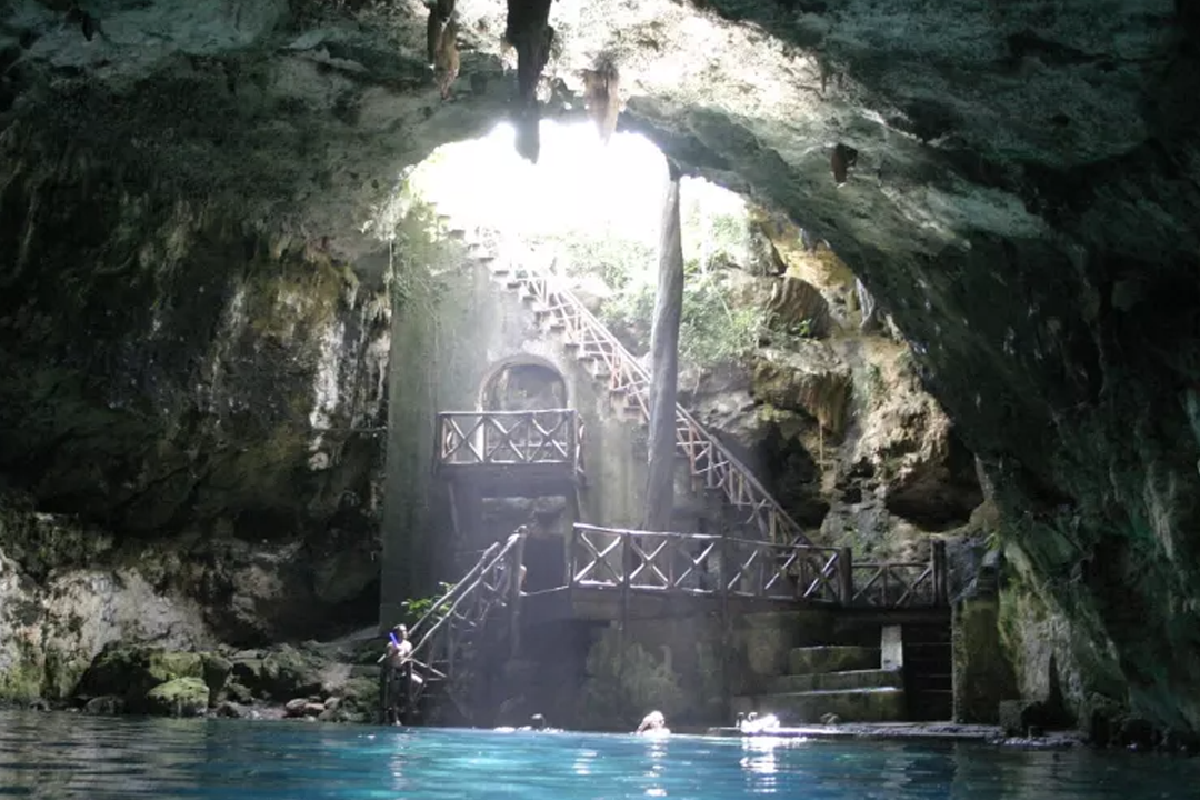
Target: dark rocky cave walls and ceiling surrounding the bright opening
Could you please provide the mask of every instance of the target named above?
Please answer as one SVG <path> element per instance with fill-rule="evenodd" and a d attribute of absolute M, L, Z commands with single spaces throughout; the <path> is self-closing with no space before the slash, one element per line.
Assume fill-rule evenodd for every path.
<path fill-rule="evenodd" d="M 1189 5 L 654 0 L 650 24 L 554 4 L 542 80 L 518 90 L 503 4 L 461 0 L 444 97 L 415 2 L 109 0 L 95 36 L 67 5 L 0 10 L 0 593 L 38 560 L 109 570 L 191 599 L 155 620 L 163 640 L 229 591 L 214 636 L 302 636 L 276 582 L 292 607 L 361 608 L 389 353 L 454 335 L 384 269 L 422 258 L 395 234 L 407 170 L 530 108 L 584 116 L 608 49 L 618 132 L 802 225 L 792 245 L 869 290 L 978 459 L 1020 600 L 1006 646 L 1052 648 L 1081 717 L 1103 697 L 1200 730 Z M 892 507 L 935 528 L 973 516 L 911 499 Z M 334 539 L 346 507 L 372 524 Z M 392 522 L 416 536 L 418 518 Z M 234 555 L 205 571 L 212 553 Z M 299 553 L 320 561 L 280 567 Z M 1063 579 L 1088 564 L 1100 577 Z M 17 604 L 6 632 L 28 630 Z M 24 663 L 14 642 L 0 664 Z"/>

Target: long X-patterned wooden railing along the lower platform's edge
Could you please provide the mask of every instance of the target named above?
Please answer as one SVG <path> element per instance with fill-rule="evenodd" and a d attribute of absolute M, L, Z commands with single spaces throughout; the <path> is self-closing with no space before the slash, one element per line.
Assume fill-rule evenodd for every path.
<path fill-rule="evenodd" d="M 856 565 L 850 548 L 583 524 L 569 536 L 568 587 L 888 608 L 946 603 L 940 543 L 929 564 Z M 914 566 L 922 570 L 910 578 Z"/>

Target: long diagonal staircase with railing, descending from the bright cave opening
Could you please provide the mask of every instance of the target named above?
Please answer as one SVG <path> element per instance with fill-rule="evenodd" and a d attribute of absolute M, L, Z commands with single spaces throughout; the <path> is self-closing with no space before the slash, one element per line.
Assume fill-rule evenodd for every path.
<path fill-rule="evenodd" d="M 497 258 L 481 242 L 468 241 L 472 257 L 486 265 L 492 279 L 516 293 L 536 315 L 542 330 L 562 337 L 583 368 L 607 384 L 618 411 L 649 421 L 649 374 L 611 331 L 554 275 Z M 811 545 L 800 525 L 779 505 L 740 461 L 697 422 L 676 407 L 676 443 L 686 461 L 692 488 L 719 493 L 736 512 L 738 524 L 770 542 Z"/>

